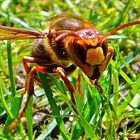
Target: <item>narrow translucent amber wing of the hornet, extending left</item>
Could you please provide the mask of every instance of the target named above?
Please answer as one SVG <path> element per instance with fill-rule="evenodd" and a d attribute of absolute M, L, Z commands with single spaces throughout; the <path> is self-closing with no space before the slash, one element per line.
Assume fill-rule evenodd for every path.
<path fill-rule="evenodd" d="M 35 39 L 43 37 L 45 37 L 45 35 L 41 32 L 16 29 L 0 25 L 0 40 Z"/>

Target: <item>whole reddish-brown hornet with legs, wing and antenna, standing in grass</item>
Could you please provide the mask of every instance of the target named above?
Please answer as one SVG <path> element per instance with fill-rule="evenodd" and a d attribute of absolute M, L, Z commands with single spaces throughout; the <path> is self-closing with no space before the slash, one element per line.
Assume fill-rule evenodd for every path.
<path fill-rule="evenodd" d="M 67 75 L 76 67 L 80 67 L 91 80 L 98 80 L 113 55 L 113 49 L 108 46 L 106 38 L 118 30 L 136 24 L 140 24 L 140 21 L 121 25 L 105 35 L 88 21 L 75 16 L 53 17 L 44 32 L 0 26 L 0 40 L 38 39 L 31 56 L 23 58 L 27 73 L 23 94 L 28 90 L 28 99 L 20 115 L 9 125 L 9 129 L 13 129 L 24 115 L 30 97 L 34 94 L 34 81 L 40 85 L 37 72 L 57 73 L 72 94 L 72 101 L 75 102 L 74 88 Z M 78 90 L 82 92 L 79 83 L 80 77 Z M 95 83 L 98 85 L 97 81 Z"/>

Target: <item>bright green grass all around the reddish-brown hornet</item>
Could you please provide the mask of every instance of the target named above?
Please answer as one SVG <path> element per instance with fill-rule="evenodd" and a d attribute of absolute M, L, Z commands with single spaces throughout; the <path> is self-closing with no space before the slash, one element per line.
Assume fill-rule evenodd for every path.
<path fill-rule="evenodd" d="M 0 24 L 43 30 L 51 16 L 73 13 L 107 33 L 121 24 L 140 20 L 139 7 L 137 0 L 126 3 L 99 0 L 90 1 L 90 4 L 89 0 L 5 0 L 0 1 Z M 109 46 L 114 48 L 115 55 L 99 79 L 102 93 L 78 68 L 69 77 L 75 87 L 74 105 L 61 80 L 51 74 L 47 74 L 49 80 L 46 80 L 43 74 L 39 74 L 43 88 L 35 86 L 36 96 L 31 98 L 26 117 L 11 132 L 7 126 L 19 114 L 22 102 L 26 100 L 21 96 L 26 75 L 22 58 L 30 56 L 34 42 L 0 42 L 0 139 L 140 138 L 140 25 L 119 31 L 110 39 Z M 84 96 L 78 93 L 78 74 Z M 49 83 L 54 85 L 49 86 Z M 41 119 L 43 115 L 45 117 Z"/>

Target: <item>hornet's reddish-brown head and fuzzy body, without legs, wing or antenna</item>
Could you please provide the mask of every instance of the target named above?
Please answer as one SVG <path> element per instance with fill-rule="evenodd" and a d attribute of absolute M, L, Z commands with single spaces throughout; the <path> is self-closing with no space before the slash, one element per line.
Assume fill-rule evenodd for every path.
<path fill-rule="evenodd" d="M 44 33 L 47 34 L 47 38 L 39 39 L 37 46 L 32 50 L 34 58 L 41 58 L 44 61 L 46 59 L 43 65 L 53 63 L 55 67 L 63 68 L 79 66 L 89 78 L 94 80 L 104 71 L 106 63 L 111 58 L 106 59 L 107 41 L 104 41 L 102 46 L 99 44 L 102 34 L 89 22 L 80 18 L 53 17 L 48 30 Z M 94 50 L 97 50 L 99 55 L 95 56 Z M 94 55 L 95 58 L 90 60 L 90 55 Z M 97 59 L 98 57 L 101 59 Z"/>

